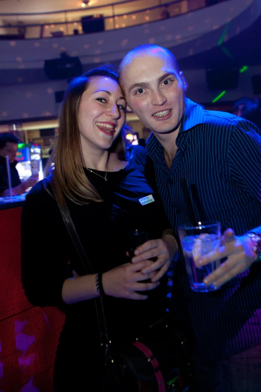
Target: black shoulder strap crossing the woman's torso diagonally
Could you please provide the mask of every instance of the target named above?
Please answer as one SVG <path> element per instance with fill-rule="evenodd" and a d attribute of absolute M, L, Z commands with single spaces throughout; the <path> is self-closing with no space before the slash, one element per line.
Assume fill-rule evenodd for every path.
<path fill-rule="evenodd" d="M 51 184 L 50 181 L 48 181 L 52 193 L 56 199 L 56 202 L 58 204 L 63 222 L 66 226 L 66 229 L 69 233 L 69 236 L 73 242 L 73 245 L 76 249 L 76 252 L 78 253 L 78 256 L 80 258 L 80 261 L 83 265 L 84 270 L 86 271 L 86 274 L 93 274 L 92 267 L 90 265 L 90 262 L 87 258 L 87 255 L 81 245 L 81 242 L 79 240 L 78 234 L 76 232 L 75 226 L 72 222 L 68 206 L 64 200 L 64 204 L 61 206 L 58 202 L 55 190 Z M 106 327 L 106 320 L 105 320 L 105 315 L 104 315 L 104 309 L 103 309 L 103 302 L 102 302 L 102 297 L 99 296 L 95 298 L 95 307 L 96 307 L 96 313 L 97 313 L 97 319 L 98 319 L 98 325 L 99 325 L 99 336 L 100 336 L 100 343 L 102 346 L 105 346 L 105 348 L 108 347 L 109 345 L 109 339 L 108 339 L 108 333 L 107 333 L 107 327 Z"/>

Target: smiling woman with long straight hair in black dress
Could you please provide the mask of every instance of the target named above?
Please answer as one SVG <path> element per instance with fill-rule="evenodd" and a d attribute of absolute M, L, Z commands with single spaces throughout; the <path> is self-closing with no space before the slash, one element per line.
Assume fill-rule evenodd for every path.
<path fill-rule="evenodd" d="M 59 203 L 67 203 L 95 273 L 86 275 L 42 181 L 27 195 L 22 213 L 25 293 L 33 305 L 66 309 L 54 366 L 59 392 L 101 390 L 104 351 L 94 305 L 100 285 L 112 341 L 131 341 L 166 308 L 163 275 L 177 245 L 171 230 L 164 230 L 169 225 L 159 197 L 144 177 L 145 154 L 126 160 L 121 133 L 125 108 L 117 75 L 110 69 L 97 68 L 73 80 L 63 100 L 54 171 L 48 178 Z M 151 195 L 153 202 L 140 200 Z M 135 256 L 130 263 L 128 232 L 139 228 L 148 234 L 149 241 L 137 249 L 147 260 L 136 262 Z M 165 238 L 157 239 L 162 232 Z M 39 238 L 48 244 L 47 254 L 39 254 Z M 148 260 L 152 256 L 157 257 L 154 263 Z"/>

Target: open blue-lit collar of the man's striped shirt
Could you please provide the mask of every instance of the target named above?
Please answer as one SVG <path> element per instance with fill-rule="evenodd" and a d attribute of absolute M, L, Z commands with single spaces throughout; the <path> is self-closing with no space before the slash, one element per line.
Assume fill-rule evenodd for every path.
<path fill-rule="evenodd" d="M 198 124 L 202 124 L 204 122 L 203 118 L 203 107 L 193 101 L 190 101 L 190 99 L 185 98 L 185 113 L 180 123 L 179 135 L 182 132 L 192 130 Z M 162 151 L 161 144 L 158 142 L 152 132 L 148 137 L 146 149 L 149 156 L 153 155 L 156 152 Z"/>

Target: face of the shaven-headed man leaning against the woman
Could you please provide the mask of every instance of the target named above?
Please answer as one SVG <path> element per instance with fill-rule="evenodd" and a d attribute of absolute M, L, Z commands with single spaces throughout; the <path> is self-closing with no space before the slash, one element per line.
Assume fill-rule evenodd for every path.
<path fill-rule="evenodd" d="M 166 53 L 134 57 L 122 70 L 121 87 L 129 108 L 155 134 L 179 127 L 186 81 Z"/>

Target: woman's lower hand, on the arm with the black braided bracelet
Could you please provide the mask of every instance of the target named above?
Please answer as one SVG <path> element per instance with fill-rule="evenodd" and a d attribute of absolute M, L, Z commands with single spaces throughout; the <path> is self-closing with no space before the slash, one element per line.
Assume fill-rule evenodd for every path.
<path fill-rule="evenodd" d="M 150 267 L 151 260 L 143 260 L 139 263 L 126 263 L 119 265 L 102 274 L 102 286 L 106 295 L 127 299 L 147 299 L 136 291 L 153 290 L 159 282 L 143 283 L 141 280 L 151 279 L 156 272 L 141 273 L 141 269 Z"/>

